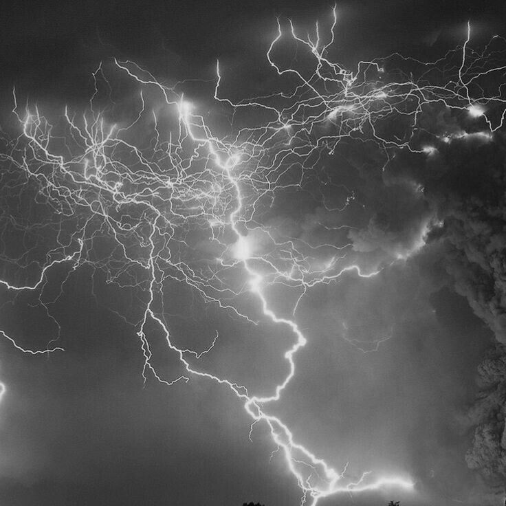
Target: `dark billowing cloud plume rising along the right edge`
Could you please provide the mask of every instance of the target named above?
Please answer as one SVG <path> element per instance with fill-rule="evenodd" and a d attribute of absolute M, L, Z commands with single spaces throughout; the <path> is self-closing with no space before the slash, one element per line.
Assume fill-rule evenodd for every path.
<path fill-rule="evenodd" d="M 421 242 L 426 246 L 423 250 L 417 248 L 419 254 L 409 262 L 419 265 L 421 275 L 432 280 L 432 291 L 446 284 L 464 296 L 496 339 L 505 343 L 506 149 L 503 135 L 481 133 L 485 128 L 483 122 L 478 120 L 472 124 L 465 115 L 456 118 L 437 109 L 426 116 L 426 125 L 440 137 L 432 140 L 437 151 L 430 155 L 401 153 L 386 165 L 384 173 L 369 175 L 369 181 L 381 178 L 383 183 L 375 184 L 375 198 L 366 199 L 371 205 L 371 221 L 366 228 L 352 231 L 349 236 L 355 250 L 384 250 L 392 258 L 396 252 L 414 244 L 413 241 L 423 239 Z M 445 136 L 446 142 L 441 140 Z M 365 173 L 364 177 L 367 177 Z M 400 199 L 392 195 L 392 188 L 401 192 Z M 395 319 L 396 312 L 387 309 L 385 314 Z M 504 356 L 504 347 L 498 345 L 481 364 L 479 378 L 483 393 L 470 412 L 470 421 L 466 422 L 477 426 L 467 463 L 496 480 L 501 477 L 504 480 L 505 475 L 506 383 L 500 372 Z"/>

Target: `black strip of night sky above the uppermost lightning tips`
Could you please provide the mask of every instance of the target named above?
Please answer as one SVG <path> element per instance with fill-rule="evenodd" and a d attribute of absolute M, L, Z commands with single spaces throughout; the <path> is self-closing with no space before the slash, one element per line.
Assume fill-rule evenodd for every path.
<path fill-rule="evenodd" d="M 173 74 L 214 77 L 214 61 L 241 67 L 247 52 L 264 61 L 276 16 L 312 25 L 333 2 L 130 1 L 12 2 L 1 17 L 1 81 L 37 97 L 83 98 L 100 58 L 124 56 Z M 347 1 L 338 4 L 338 45 L 345 60 L 384 56 L 441 39 L 461 41 L 459 25 L 471 19 L 476 34 L 500 32 L 502 2 Z M 371 44 L 371 41 L 374 41 Z M 444 47 L 444 46 L 443 46 Z M 441 50 L 441 46 L 439 47 Z"/>

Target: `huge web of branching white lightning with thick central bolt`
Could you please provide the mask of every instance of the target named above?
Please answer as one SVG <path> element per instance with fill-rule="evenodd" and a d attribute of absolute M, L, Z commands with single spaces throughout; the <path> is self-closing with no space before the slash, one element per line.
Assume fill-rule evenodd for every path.
<path fill-rule="evenodd" d="M 162 85 L 135 63 L 115 61 L 115 69 L 142 89 L 139 109 L 129 124 L 118 126 L 108 122 L 103 111 L 96 111 L 94 100 L 99 95 L 99 80 L 109 86 L 100 65 L 93 75 L 95 89 L 89 111 L 75 115 L 66 108 L 61 118 L 63 131 L 55 133 L 54 126 L 38 108 L 27 107 L 25 114 L 21 114 L 16 102 L 14 113 L 23 126 L 23 135 L 8 143 L 10 153 L 1 155 L 3 162 L 10 164 L 8 177 L 17 183 L 13 187 L 19 188 L 19 175 L 34 182 L 39 187 L 39 195 L 47 199 L 47 206 L 61 223 L 55 225 L 58 229 L 56 244 L 45 256 L 36 281 L 19 285 L 0 281 L 0 284 L 10 292 L 39 292 L 39 301 L 46 309 L 49 304 L 43 300 L 43 290 L 49 271 L 58 265 L 70 267 L 67 277 L 80 265 L 91 265 L 105 270 L 110 283 L 144 290 L 147 294 L 144 310 L 134 325 L 144 356 L 144 380 L 151 374 L 170 386 L 187 382 L 190 377 L 203 377 L 227 386 L 243 402 L 252 418 L 252 427 L 261 422 L 269 428 L 274 445 L 283 452 L 287 467 L 300 487 L 302 503 L 309 500 L 311 506 L 316 506 L 321 498 L 340 492 L 364 492 L 387 486 L 414 487 L 408 478 L 380 476 L 371 479 L 369 472 L 364 472 L 357 481 L 350 480 L 346 470 L 337 472 L 296 441 L 287 423 L 268 409 L 281 399 L 294 379 L 296 355 L 307 342 L 295 318 L 300 298 L 311 287 L 336 281 L 344 273 L 370 277 L 384 265 L 364 269 L 350 254 L 350 243 L 336 245 L 329 241 L 313 245 L 303 238 L 268 230 L 261 221 L 260 210 L 266 200 L 274 199 L 285 190 L 304 190 L 310 178 L 320 174 L 318 166 L 322 157 L 336 153 L 340 142 L 372 143 L 384 154 L 385 164 L 399 149 L 434 156 L 441 146 L 454 139 L 478 136 L 483 142 L 492 141 L 494 132 L 503 126 L 506 110 L 487 115 L 488 111 L 504 106 L 506 101 L 501 87 L 496 94 L 485 96 L 479 85 L 483 78 L 497 75 L 505 68 L 498 64 L 504 52 L 488 47 L 482 53 L 471 50 L 470 25 L 463 47 L 434 63 L 393 55 L 382 63 L 362 61 L 357 72 L 351 72 L 333 63 L 328 56 L 336 24 L 334 9 L 329 41 L 322 43 L 318 24 L 314 36 L 304 39 L 298 35 L 294 24 L 289 23 L 290 39 L 305 47 L 314 58 L 314 68 L 308 72 L 307 69 L 283 67 L 276 61 L 276 50 L 285 35 L 278 21 L 278 34 L 267 50 L 267 61 L 281 78 L 289 76 L 296 80 L 289 91 L 239 101 L 222 98 L 222 75 L 217 64 L 214 98 L 230 107 L 234 114 L 252 113 L 251 124 L 235 131 L 232 128 L 233 134 L 214 134 L 203 116 L 195 112 L 195 107 L 175 87 Z M 419 77 L 406 76 L 395 69 L 393 63 L 392 69 L 386 71 L 388 62 L 399 59 L 417 67 Z M 441 69 L 450 77 L 444 83 L 439 78 L 432 84 L 431 72 L 437 70 L 440 74 Z M 162 94 L 164 107 L 176 111 L 175 127 L 165 131 L 159 107 L 149 111 L 151 89 Z M 428 142 L 419 136 L 423 130 L 420 118 L 428 107 L 466 113 L 476 121 L 483 119 L 485 126 L 474 133 L 458 130 L 428 133 L 431 136 Z M 255 111 L 271 119 L 264 120 L 263 115 L 256 118 Z M 146 126 L 142 123 L 146 116 L 153 122 L 149 125 L 153 137 L 147 144 L 142 145 L 140 141 L 135 144 L 135 135 L 130 134 L 135 128 Z M 493 118 L 496 118 L 494 123 Z M 388 133 L 386 126 L 393 120 L 405 122 L 401 133 Z M 344 207 L 351 201 L 353 195 L 350 194 Z M 329 212 L 340 210 L 327 206 L 325 209 Z M 67 234 L 66 227 L 71 225 L 74 232 Z M 327 225 L 323 228 L 334 229 Z M 426 228 L 427 232 L 430 223 Z M 214 264 L 208 262 L 206 269 L 190 259 L 192 243 L 188 230 L 194 229 L 207 234 L 220 248 Z M 269 251 L 255 250 L 251 236 L 256 230 L 261 230 L 270 243 Z M 225 232 L 231 232 L 232 239 Z M 95 242 L 102 236 L 114 245 L 112 260 L 101 259 L 98 253 L 91 254 L 99 249 Z M 422 246 L 421 236 L 416 248 L 399 254 L 399 259 L 405 260 Z M 234 278 L 245 280 L 244 283 L 228 281 L 230 273 Z M 256 324 L 256 318 L 234 302 L 246 295 L 252 296 L 262 318 L 289 330 L 294 338 L 284 354 L 287 373 L 283 380 L 274 385 L 270 393 L 252 395 L 246 386 L 193 365 L 192 358 L 198 360 L 212 351 L 217 337 L 210 347 L 199 353 L 177 344 L 159 309 L 163 308 L 163 284 L 167 280 L 184 283 L 203 300 Z M 291 318 L 280 316 L 275 305 L 270 303 L 267 288 L 273 285 L 299 290 Z M 56 299 L 62 292 L 63 287 Z M 49 309 L 47 314 L 52 318 Z M 184 368 L 184 374 L 179 377 L 166 380 L 153 366 L 148 332 L 153 323 L 162 331 L 168 349 L 177 355 Z M 42 351 L 31 350 L 21 347 L 7 333 L 3 332 L 3 336 L 25 353 L 61 350 L 61 347 L 49 345 Z M 1 384 L 0 399 L 4 392 L 5 386 Z"/>

